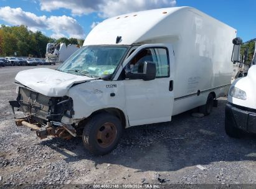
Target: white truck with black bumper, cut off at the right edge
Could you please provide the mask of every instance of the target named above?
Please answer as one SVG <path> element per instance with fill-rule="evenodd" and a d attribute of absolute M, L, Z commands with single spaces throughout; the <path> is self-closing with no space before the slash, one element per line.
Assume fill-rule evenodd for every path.
<path fill-rule="evenodd" d="M 230 86 L 225 107 L 225 132 L 230 137 L 239 138 L 243 131 L 256 133 L 256 49 L 248 63 L 248 47 L 244 47 L 250 42 L 255 43 L 256 39 L 245 43 L 240 38 L 233 40 L 232 62 L 239 64 L 239 71 Z"/>

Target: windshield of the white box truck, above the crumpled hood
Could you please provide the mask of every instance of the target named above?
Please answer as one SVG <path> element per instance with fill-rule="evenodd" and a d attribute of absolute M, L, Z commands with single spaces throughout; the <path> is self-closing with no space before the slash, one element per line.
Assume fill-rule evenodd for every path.
<path fill-rule="evenodd" d="M 73 53 L 57 70 L 105 78 L 115 71 L 127 50 L 128 46 L 85 46 Z"/>

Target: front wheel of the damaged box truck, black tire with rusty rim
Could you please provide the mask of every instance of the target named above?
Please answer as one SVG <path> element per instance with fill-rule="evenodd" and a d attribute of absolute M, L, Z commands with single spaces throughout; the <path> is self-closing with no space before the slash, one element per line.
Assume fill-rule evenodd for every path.
<path fill-rule="evenodd" d="M 123 127 L 116 116 L 96 114 L 83 129 L 83 145 L 92 154 L 105 155 L 116 148 L 122 133 Z"/>

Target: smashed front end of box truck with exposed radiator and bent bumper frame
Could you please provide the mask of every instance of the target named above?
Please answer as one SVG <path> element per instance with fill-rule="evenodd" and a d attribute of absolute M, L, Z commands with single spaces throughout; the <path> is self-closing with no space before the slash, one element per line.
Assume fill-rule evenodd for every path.
<path fill-rule="evenodd" d="M 72 122 L 73 100 L 68 96 L 49 97 L 19 87 L 16 101 L 9 101 L 9 103 L 13 112 L 14 108 L 18 108 L 26 115 L 16 118 L 16 125 L 35 130 L 40 139 L 45 139 L 47 136 L 64 139 L 77 136 L 75 124 Z"/>

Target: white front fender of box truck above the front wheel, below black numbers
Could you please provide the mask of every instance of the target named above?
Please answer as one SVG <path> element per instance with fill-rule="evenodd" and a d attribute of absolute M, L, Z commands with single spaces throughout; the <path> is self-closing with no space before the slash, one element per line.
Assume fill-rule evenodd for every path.
<path fill-rule="evenodd" d="M 123 81 L 95 80 L 70 88 L 67 96 L 73 99 L 73 119 L 88 118 L 99 109 L 116 108 L 125 111 Z"/>

